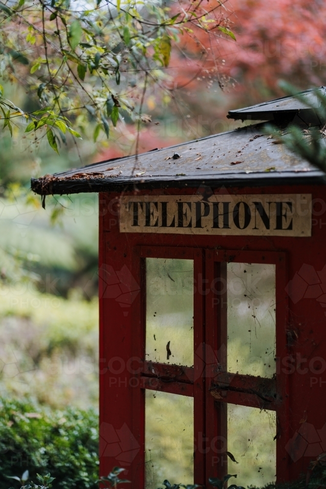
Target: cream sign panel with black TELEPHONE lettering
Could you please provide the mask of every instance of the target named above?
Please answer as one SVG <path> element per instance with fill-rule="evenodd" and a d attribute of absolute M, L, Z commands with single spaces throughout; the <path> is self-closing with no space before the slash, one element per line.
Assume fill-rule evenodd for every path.
<path fill-rule="evenodd" d="M 122 197 L 120 232 L 311 236 L 311 195 Z"/>

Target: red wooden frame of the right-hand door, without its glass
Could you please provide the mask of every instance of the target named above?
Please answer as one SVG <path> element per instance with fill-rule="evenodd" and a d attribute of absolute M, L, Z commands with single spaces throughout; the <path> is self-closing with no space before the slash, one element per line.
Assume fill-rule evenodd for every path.
<path fill-rule="evenodd" d="M 250 391 L 259 391 L 262 379 L 253 376 L 232 375 L 232 381 L 225 383 L 230 390 L 220 389 L 218 402 L 211 395 L 209 389 L 206 389 L 206 432 L 210 437 L 221 436 L 227 439 L 226 433 L 226 416 L 223 411 L 223 402 L 231 402 L 244 406 L 259 407 L 276 411 L 277 433 L 276 433 L 276 469 L 277 482 L 287 481 L 289 479 L 289 455 L 285 450 L 288 440 L 289 428 L 289 386 L 288 377 L 282 373 L 281 360 L 287 355 L 287 325 L 288 325 L 288 297 L 285 293 L 287 284 L 287 260 L 286 253 L 275 251 L 246 251 L 246 250 L 224 250 L 214 249 L 206 250 L 206 279 L 208 283 L 213 283 L 214 279 L 224 279 L 226 281 L 226 264 L 230 262 L 238 263 L 261 263 L 275 264 L 276 266 L 276 379 L 266 379 L 265 387 L 270 387 L 276 392 L 275 402 L 264 402 Z M 224 375 L 226 364 L 226 346 L 227 346 L 227 308 L 223 304 L 227 303 L 226 291 L 217 294 L 216 289 L 210 289 L 206 300 L 206 341 L 211 346 L 210 351 L 218 352 L 217 358 L 219 368 L 214 371 L 211 369 L 210 377 L 218 378 L 218 375 Z M 212 358 L 206 357 L 206 363 L 212 364 Z M 224 365 L 223 365 L 224 364 Z M 224 368 L 223 368 L 224 366 Z M 225 377 L 225 375 L 224 375 Z M 276 384 L 273 386 L 273 384 Z M 245 392 L 247 391 L 247 392 Z M 226 448 L 224 447 L 224 450 Z M 227 455 L 224 453 L 224 457 Z M 210 474 L 220 477 L 225 474 L 227 464 L 221 454 L 218 464 L 212 467 L 207 459 L 207 479 Z M 207 480 L 208 482 L 208 480 Z"/>

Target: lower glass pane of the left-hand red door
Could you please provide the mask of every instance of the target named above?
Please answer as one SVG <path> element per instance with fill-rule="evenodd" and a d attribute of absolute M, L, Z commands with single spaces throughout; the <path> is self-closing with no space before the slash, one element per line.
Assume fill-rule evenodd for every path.
<path fill-rule="evenodd" d="M 194 484 L 194 398 L 145 392 L 145 489 Z"/>

